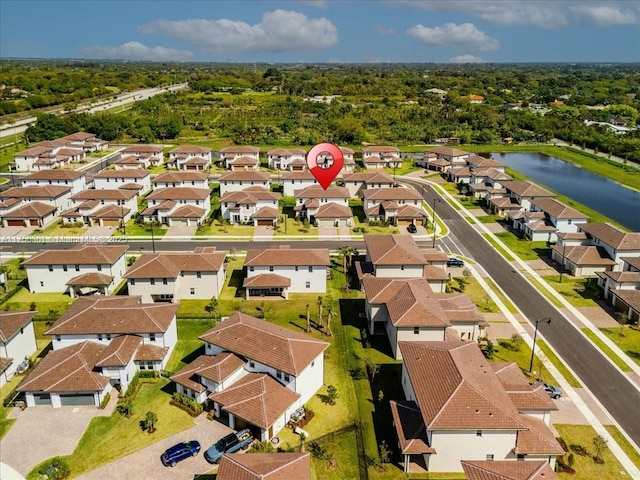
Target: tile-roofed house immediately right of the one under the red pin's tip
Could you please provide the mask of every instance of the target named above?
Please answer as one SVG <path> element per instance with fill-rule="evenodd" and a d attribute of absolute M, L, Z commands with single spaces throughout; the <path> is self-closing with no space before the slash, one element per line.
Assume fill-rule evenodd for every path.
<path fill-rule="evenodd" d="M 364 213 L 368 220 L 397 226 L 422 224 L 425 221 L 422 195 L 413 188 L 367 188 L 363 197 Z"/>

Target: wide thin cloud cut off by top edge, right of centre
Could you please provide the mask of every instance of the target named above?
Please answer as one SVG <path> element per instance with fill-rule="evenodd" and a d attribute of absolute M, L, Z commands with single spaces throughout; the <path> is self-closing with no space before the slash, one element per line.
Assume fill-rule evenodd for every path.
<path fill-rule="evenodd" d="M 567 25 L 562 2 L 558 0 L 393 0 L 423 10 L 475 15 L 496 25 L 533 25 L 560 28 Z"/>

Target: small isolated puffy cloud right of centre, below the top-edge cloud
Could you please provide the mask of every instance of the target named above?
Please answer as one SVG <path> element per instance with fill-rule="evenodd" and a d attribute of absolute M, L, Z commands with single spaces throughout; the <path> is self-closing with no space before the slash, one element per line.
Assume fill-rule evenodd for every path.
<path fill-rule="evenodd" d="M 500 42 L 478 30 L 473 23 L 445 23 L 438 27 L 416 25 L 407 30 L 407 34 L 417 38 L 425 45 L 434 47 L 457 48 L 472 52 L 497 50 Z"/>

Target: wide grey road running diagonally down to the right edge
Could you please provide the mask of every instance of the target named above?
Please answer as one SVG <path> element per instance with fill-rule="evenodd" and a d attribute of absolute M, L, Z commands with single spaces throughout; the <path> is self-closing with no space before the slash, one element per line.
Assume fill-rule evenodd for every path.
<path fill-rule="evenodd" d="M 432 205 L 434 198 L 439 198 L 431 188 L 425 189 L 424 196 L 429 205 Z M 436 210 L 450 229 L 453 238 L 449 240 L 454 240 L 465 255 L 482 265 L 530 321 L 545 317 L 553 320 L 551 325 L 540 322 L 539 333 L 544 335 L 545 340 L 633 441 L 640 445 L 640 392 L 629 378 L 616 370 L 598 349 L 575 330 L 566 317 L 517 273 L 446 201 L 437 203 Z"/>

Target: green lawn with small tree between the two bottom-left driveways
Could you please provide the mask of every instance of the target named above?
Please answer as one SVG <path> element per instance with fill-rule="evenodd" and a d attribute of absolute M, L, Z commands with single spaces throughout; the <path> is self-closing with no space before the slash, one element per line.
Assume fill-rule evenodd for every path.
<path fill-rule="evenodd" d="M 193 418 L 169 405 L 171 393 L 167 390 L 173 391 L 173 388 L 164 388 L 169 383 L 168 379 L 160 378 L 155 384 L 143 384 L 133 401 L 131 418 L 124 418 L 114 411 L 109 417 L 91 420 L 74 452 L 65 457 L 71 476 L 78 476 L 191 428 Z M 157 431 L 153 434 L 143 432 L 139 425 L 149 411 L 158 415 Z M 37 478 L 36 469 L 29 473 L 28 479 Z"/>

